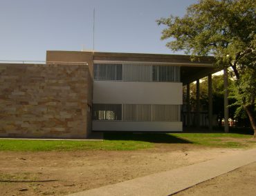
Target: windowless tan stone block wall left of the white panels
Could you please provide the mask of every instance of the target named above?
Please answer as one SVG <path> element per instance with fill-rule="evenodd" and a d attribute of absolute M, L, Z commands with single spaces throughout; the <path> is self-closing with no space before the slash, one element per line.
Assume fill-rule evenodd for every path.
<path fill-rule="evenodd" d="M 85 138 L 92 79 L 82 64 L 0 64 L 0 137 Z"/>

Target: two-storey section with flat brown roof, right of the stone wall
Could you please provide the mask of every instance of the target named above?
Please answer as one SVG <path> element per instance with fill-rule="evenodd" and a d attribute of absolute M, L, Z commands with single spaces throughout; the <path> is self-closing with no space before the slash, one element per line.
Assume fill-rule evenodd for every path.
<path fill-rule="evenodd" d="M 48 51 L 47 61 L 89 62 L 92 131 L 182 131 L 183 85 L 214 70 L 185 55 Z"/>

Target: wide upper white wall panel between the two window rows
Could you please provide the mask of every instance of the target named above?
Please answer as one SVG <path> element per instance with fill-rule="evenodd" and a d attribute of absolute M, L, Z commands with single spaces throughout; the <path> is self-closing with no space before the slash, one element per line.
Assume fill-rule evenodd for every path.
<path fill-rule="evenodd" d="M 93 81 L 94 104 L 181 105 L 182 101 L 181 83 Z"/>

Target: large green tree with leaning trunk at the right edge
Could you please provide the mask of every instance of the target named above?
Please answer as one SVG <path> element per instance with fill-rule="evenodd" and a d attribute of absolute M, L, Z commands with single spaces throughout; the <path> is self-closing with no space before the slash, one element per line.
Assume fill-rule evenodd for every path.
<path fill-rule="evenodd" d="M 256 136 L 256 91 L 244 88 L 255 83 L 250 81 L 256 70 L 255 8 L 255 0 L 199 0 L 183 17 L 171 15 L 157 22 L 167 26 L 161 39 L 173 38 L 167 43 L 171 50 L 184 50 L 192 59 L 213 55 L 216 66 L 232 68 L 234 97 Z"/>

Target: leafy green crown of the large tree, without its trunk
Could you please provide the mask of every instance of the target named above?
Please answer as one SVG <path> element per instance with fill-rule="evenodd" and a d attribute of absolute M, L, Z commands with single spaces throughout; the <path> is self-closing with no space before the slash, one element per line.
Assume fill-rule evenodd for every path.
<path fill-rule="evenodd" d="M 174 37 L 167 47 L 191 55 L 214 55 L 219 64 L 251 57 L 255 48 L 254 0 L 201 0 L 183 18 L 161 18 L 161 39 Z"/>

